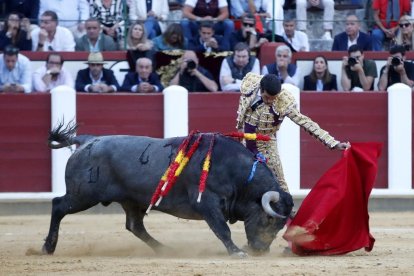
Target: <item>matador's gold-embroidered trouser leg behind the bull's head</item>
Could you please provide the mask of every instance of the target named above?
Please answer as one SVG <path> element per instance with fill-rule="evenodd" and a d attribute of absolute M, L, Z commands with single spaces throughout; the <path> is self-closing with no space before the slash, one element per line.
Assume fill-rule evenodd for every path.
<path fill-rule="evenodd" d="M 275 174 L 280 188 L 289 193 L 289 188 L 287 186 L 285 175 L 283 174 L 282 162 L 280 161 L 279 151 L 277 149 L 276 140 L 272 139 L 271 141 L 256 141 L 257 149 L 261 152 L 267 160 L 267 166 Z"/>

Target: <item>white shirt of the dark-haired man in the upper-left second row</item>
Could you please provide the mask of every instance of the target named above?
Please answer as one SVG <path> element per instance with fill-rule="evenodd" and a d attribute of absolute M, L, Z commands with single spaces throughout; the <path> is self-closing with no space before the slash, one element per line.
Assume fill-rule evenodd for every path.
<path fill-rule="evenodd" d="M 32 51 L 37 50 L 37 44 L 39 43 L 39 31 L 40 28 L 36 28 L 32 31 Z M 74 52 L 75 44 L 72 32 L 65 27 L 57 26 L 53 40 L 49 41 L 46 39 L 43 45 L 43 51 Z M 49 48 L 49 46 L 51 48 Z"/>

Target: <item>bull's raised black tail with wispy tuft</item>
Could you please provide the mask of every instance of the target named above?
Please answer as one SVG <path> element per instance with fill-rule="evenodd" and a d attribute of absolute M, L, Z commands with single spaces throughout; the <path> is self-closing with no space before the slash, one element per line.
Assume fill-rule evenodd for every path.
<path fill-rule="evenodd" d="M 73 122 L 69 122 L 66 127 L 64 127 L 64 122 L 59 123 L 52 131 L 49 132 L 49 138 L 47 139 L 49 148 L 60 149 L 69 147 L 73 144 L 82 145 L 94 137 L 92 135 L 75 136 L 77 129 L 78 125 Z"/>

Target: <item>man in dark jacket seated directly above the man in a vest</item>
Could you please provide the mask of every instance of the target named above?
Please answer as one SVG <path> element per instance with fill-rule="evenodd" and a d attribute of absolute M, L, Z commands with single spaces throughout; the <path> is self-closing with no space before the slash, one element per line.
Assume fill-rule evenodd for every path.
<path fill-rule="evenodd" d="M 231 33 L 230 50 L 239 42 L 249 45 L 251 51 L 256 51 L 263 43 L 269 42 L 263 34 L 256 31 L 256 20 L 252 15 L 244 15 L 241 18 L 242 26 L 239 30 Z"/>

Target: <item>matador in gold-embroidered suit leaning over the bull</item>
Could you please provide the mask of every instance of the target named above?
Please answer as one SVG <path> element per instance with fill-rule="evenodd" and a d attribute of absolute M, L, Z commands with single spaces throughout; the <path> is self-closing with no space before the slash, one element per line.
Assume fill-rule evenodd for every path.
<path fill-rule="evenodd" d="M 248 73 L 242 80 L 240 101 L 237 110 L 237 129 L 245 133 L 265 134 L 270 142 L 246 141 L 246 147 L 254 154 L 262 153 L 268 167 L 277 177 L 280 187 L 289 192 L 280 161 L 276 132 L 285 117 L 288 117 L 306 132 L 330 149 L 345 150 L 349 142 L 340 142 L 319 127 L 297 109 L 295 98 L 289 92 L 289 85 L 281 86 L 276 75 L 265 76 Z"/>

